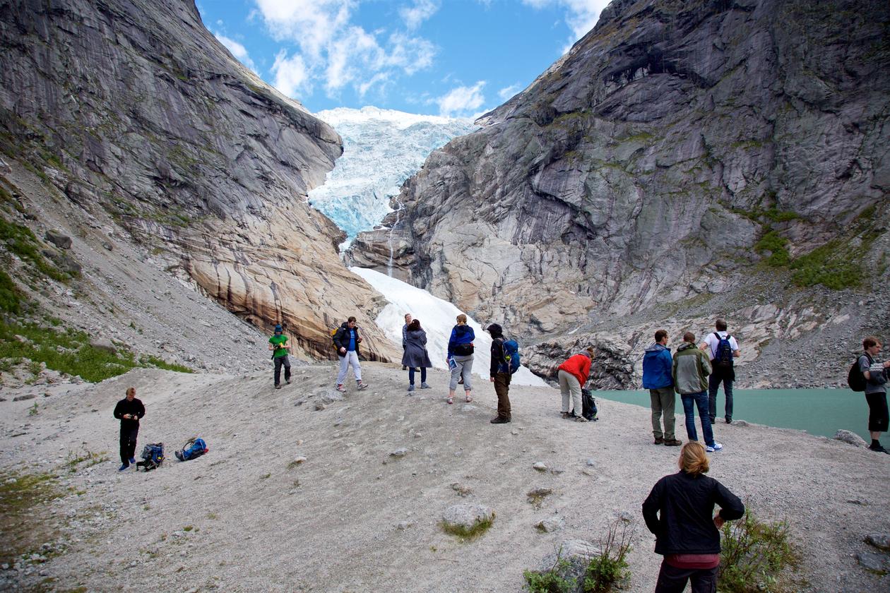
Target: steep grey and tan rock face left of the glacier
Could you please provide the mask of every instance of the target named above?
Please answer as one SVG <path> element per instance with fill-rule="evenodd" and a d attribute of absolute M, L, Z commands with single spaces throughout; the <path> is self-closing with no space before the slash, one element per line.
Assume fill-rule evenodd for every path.
<path fill-rule="evenodd" d="M 6 156 L 306 352 L 331 357 L 328 329 L 357 315 L 369 356 L 392 356 L 379 295 L 305 203 L 339 137 L 234 60 L 193 2 L 3 2 L 0 17 Z"/>

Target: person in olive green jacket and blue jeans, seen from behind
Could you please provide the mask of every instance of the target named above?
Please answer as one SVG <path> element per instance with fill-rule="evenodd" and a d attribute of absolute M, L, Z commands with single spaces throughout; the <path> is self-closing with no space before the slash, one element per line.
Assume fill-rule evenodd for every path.
<path fill-rule="evenodd" d="M 699 436 L 695 432 L 695 406 L 698 406 L 701 432 L 704 433 L 707 451 L 714 453 L 723 449 L 723 445 L 714 440 L 714 431 L 711 429 L 711 420 L 708 415 L 707 389 L 710 373 L 711 364 L 708 357 L 702 350 L 695 348 L 695 334 L 684 333 L 683 344 L 676 349 L 671 372 L 674 390 L 680 394 L 680 399 L 683 400 L 683 411 L 686 415 L 686 437 L 691 441 L 699 440 Z"/>

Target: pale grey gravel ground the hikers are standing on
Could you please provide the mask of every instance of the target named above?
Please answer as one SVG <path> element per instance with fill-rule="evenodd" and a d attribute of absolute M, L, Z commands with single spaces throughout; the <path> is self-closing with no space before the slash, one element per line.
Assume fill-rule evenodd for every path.
<path fill-rule="evenodd" d="M 600 420 L 579 424 L 559 417 L 558 391 L 514 387 L 514 421 L 498 426 L 488 384 L 447 405 L 441 371 L 414 397 L 393 365 L 368 363 L 361 392 L 336 393 L 335 373 L 297 366 L 281 390 L 268 369 L 99 384 L 43 373 L 54 382 L 4 389 L 0 500 L 20 498 L 0 516 L 0 589 L 519 591 L 523 570 L 621 517 L 635 529 L 625 590 L 654 589 L 640 505 L 677 449 L 651 444 L 648 410 L 601 399 Z M 150 473 L 117 471 L 111 412 L 130 385 L 147 409 L 138 449 L 166 445 Z M 890 586 L 865 567 L 890 557 L 864 541 L 890 534 L 890 457 L 744 422 L 715 430 L 725 450 L 710 475 L 758 516 L 789 519 L 793 590 Z M 176 461 L 195 436 L 209 453 Z M 445 533 L 456 505 L 493 511 L 490 529 Z"/>

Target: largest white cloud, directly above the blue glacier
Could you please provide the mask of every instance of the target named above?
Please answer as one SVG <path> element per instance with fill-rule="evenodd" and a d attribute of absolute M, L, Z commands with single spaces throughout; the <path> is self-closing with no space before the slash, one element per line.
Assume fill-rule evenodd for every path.
<path fill-rule="evenodd" d="M 364 95 L 398 74 L 410 76 L 433 64 L 435 46 L 423 37 L 407 32 L 386 36 L 384 30 L 367 31 L 352 24 L 358 0 L 255 2 L 271 35 L 279 41 L 292 42 L 299 49 L 302 59 L 294 68 L 304 77 L 293 88 L 308 88 L 317 81 L 323 82 L 328 96 L 336 96 L 347 85 Z M 414 0 L 413 7 L 403 9 L 406 12 L 402 18 L 409 27 L 417 27 L 437 9 L 438 0 Z"/>

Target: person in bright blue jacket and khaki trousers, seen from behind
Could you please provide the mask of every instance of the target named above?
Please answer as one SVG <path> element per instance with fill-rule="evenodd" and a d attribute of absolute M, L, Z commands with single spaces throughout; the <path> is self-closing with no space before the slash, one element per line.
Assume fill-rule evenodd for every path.
<path fill-rule="evenodd" d="M 667 330 L 659 330 L 655 333 L 655 343 L 643 355 L 643 389 L 649 389 L 655 445 L 683 445 L 674 437 L 676 395 L 673 368 L 674 359 L 667 348 Z M 665 419 L 664 430 L 661 429 L 662 415 Z"/>

